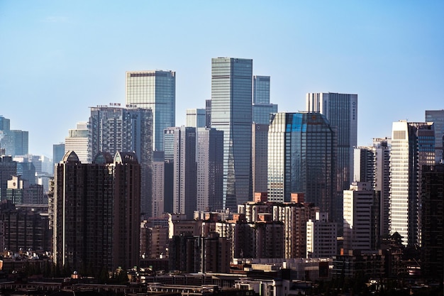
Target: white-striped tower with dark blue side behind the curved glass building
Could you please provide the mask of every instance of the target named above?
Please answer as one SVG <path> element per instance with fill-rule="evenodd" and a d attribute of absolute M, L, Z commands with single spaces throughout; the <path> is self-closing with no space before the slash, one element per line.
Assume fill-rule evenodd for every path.
<path fill-rule="evenodd" d="M 326 116 L 335 131 L 335 199 L 340 201 L 343 198 L 343 190 L 348 190 L 353 181 L 353 148 L 357 146 L 357 94 L 309 93 L 306 94 L 306 110 Z M 341 202 L 338 202 L 338 206 L 338 215 L 331 218 L 341 222 Z"/>

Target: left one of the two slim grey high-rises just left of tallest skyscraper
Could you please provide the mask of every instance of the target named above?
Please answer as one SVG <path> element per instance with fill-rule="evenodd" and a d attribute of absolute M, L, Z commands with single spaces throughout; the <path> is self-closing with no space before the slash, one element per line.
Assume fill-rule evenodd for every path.
<path fill-rule="evenodd" d="M 173 213 L 192 219 L 196 210 L 196 128 L 182 126 L 165 131 L 172 131 L 168 136 L 174 137 Z"/>

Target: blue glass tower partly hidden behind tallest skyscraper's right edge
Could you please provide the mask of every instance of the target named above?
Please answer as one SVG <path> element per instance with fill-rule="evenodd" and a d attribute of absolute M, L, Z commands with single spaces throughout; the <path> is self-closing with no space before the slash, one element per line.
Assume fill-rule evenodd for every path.
<path fill-rule="evenodd" d="M 252 122 L 270 124 L 270 114 L 277 113 L 277 105 L 270 104 L 270 76 L 253 76 Z"/>

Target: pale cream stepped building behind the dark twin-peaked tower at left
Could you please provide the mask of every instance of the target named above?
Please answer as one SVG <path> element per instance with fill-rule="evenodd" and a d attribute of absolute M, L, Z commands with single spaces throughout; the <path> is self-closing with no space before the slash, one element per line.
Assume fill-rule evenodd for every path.
<path fill-rule="evenodd" d="M 68 136 L 65 138 L 65 153 L 74 151 L 82 163 L 91 163 L 92 156 L 88 153 L 88 133 L 88 123 L 78 122 L 76 128 L 68 130 Z"/>

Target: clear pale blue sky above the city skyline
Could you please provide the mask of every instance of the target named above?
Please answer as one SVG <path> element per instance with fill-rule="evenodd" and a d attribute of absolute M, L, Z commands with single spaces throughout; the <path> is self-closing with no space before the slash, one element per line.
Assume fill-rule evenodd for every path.
<path fill-rule="evenodd" d="M 444 1 L 0 0 L 0 115 L 29 151 L 125 102 L 125 71 L 176 71 L 176 124 L 211 97 L 211 57 L 253 59 L 279 111 L 358 94 L 358 144 L 444 109 Z"/>

